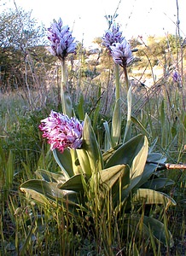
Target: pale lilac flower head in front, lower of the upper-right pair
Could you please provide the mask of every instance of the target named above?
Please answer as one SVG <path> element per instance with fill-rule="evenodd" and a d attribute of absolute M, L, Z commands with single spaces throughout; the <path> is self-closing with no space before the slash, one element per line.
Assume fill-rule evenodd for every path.
<path fill-rule="evenodd" d="M 121 67 L 127 67 L 131 64 L 134 57 L 131 53 L 131 45 L 123 38 L 121 43 L 114 43 L 110 46 L 113 61 Z"/>

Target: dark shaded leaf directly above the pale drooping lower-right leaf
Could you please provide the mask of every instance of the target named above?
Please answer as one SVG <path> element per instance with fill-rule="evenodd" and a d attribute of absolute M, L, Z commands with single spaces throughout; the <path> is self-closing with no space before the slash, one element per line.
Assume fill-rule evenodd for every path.
<path fill-rule="evenodd" d="M 143 183 L 142 189 L 165 189 L 167 186 L 173 185 L 174 182 L 171 179 L 168 179 L 166 177 L 159 177 L 159 178 L 154 178 L 152 180 L 149 180 L 146 183 Z"/>

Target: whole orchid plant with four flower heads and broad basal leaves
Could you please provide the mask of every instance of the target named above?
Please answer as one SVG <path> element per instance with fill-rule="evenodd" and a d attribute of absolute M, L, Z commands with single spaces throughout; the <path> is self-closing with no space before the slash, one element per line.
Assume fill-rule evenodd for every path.
<path fill-rule="evenodd" d="M 165 166 L 166 158 L 153 153 L 153 147 L 148 148 L 148 138 L 142 134 L 126 139 L 129 125 L 126 125 L 125 135 L 120 134 L 119 66 L 125 69 L 126 74 L 126 68 L 133 60 L 130 44 L 116 25 L 111 26 L 102 38 L 116 67 L 112 128 L 110 132 L 108 123 L 104 124 L 106 146 L 102 147 L 97 142 L 88 114 L 84 114 L 83 121 L 73 116 L 65 68 L 67 55 L 75 51 L 73 40 L 69 27 L 62 26 L 61 20 L 49 28 L 51 53 L 61 60 L 62 113 L 51 111 L 49 117 L 41 120 L 39 129 L 50 144 L 61 172 L 37 170 L 37 179 L 22 183 L 20 190 L 38 203 L 49 207 L 60 206 L 61 211 L 78 216 L 80 220 L 89 214 L 97 223 L 106 208 L 108 215 L 112 211 L 114 218 L 122 216 L 125 223 L 136 224 L 137 227 L 141 220 L 140 215 L 131 210 L 134 205 L 162 204 L 169 207 L 175 206 L 176 202 L 160 191 L 172 184 L 171 180 L 160 178 L 156 172 L 160 165 Z M 129 102 L 127 121 L 130 121 L 131 87 L 128 88 L 127 76 L 126 81 Z M 151 179 L 152 176 L 154 179 Z M 163 224 L 157 219 L 144 216 L 142 230 L 165 244 L 167 239 L 170 245 L 173 243 L 171 233 L 167 235 Z"/>

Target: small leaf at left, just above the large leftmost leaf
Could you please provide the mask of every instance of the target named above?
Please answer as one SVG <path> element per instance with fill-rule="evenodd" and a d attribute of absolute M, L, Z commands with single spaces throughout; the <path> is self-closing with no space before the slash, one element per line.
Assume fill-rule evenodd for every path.
<path fill-rule="evenodd" d="M 62 173 L 49 172 L 43 169 L 38 169 L 36 175 L 40 179 L 44 179 L 47 182 L 64 183 L 65 177 Z"/>

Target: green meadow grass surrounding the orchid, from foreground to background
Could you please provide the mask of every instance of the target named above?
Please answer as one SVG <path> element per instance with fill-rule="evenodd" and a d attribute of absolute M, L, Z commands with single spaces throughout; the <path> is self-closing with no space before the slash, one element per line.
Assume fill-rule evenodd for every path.
<path fill-rule="evenodd" d="M 91 78 L 78 80 L 82 91 L 85 91 L 84 109 L 93 119 L 99 143 L 102 143 L 104 136 L 103 122 L 108 120 L 109 123 L 112 118 L 113 84 L 110 81 L 108 87 L 101 88 L 100 82 L 94 82 Z M 153 92 L 138 84 L 133 86 L 132 114 L 139 122 L 132 123 L 131 131 L 133 135 L 145 132 L 150 144 L 156 141 L 156 151 L 166 155 L 167 162 L 185 163 L 184 93 L 169 80 L 159 85 L 160 90 Z M 80 96 L 82 91 L 78 91 L 77 95 Z M 138 230 L 125 222 L 125 212 L 119 221 L 114 218 L 109 198 L 105 212 L 87 212 L 82 218 L 70 216 L 69 212 L 61 211 L 60 207 L 39 206 L 20 192 L 20 184 L 35 178 L 34 172 L 38 168 L 60 172 L 49 151 L 49 145 L 44 143 L 38 131 L 40 120 L 51 109 L 61 111 L 61 106 L 55 103 L 58 99 L 57 91 L 50 88 L 49 94 L 43 95 L 44 99 L 48 99 L 44 100 L 44 104 L 41 99 L 36 101 L 37 91 L 30 90 L 29 93 L 29 102 L 21 90 L 0 95 L 0 255 L 183 256 L 186 205 L 185 172 L 181 169 L 159 172 L 160 176 L 170 177 L 175 182 L 165 192 L 177 201 L 177 206 L 169 209 L 166 206 L 134 207 L 130 213 L 140 213 L 141 216 L 137 222 Z M 124 131 L 127 104 L 125 90 L 121 93 L 124 99 Z M 31 99 L 34 108 L 30 106 Z M 83 100 L 79 97 L 78 101 Z M 80 105 L 74 103 L 75 111 Z M 94 206 L 93 209 L 97 209 L 95 198 L 90 197 L 90 204 Z M 173 247 L 165 247 L 155 241 L 152 234 L 147 239 L 142 230 L 145 211 L 165 224 L 166 241 L 169 239 L 167 230 L 171 230 L 175 241 Z M 92 216 L 95 218 L 95 227 L 91 226 Z"/>

